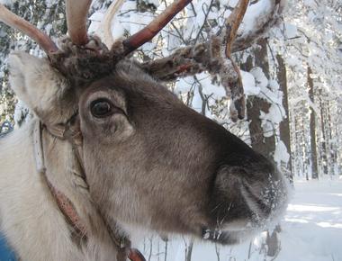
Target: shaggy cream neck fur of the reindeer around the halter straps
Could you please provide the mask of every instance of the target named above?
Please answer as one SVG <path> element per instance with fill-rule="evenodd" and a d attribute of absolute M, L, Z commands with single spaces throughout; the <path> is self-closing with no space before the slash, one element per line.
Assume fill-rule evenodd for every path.
<path fill-rule="evenodd" d="M 116 260 L 101 215 L 77 175 L 71 145 L 43 131 L 46 176 L 36 170 L 35 121 L 0 139 L 0 229 L 21 260 Z M 74 237 L 46 178 L 74 204 L 85 223 L 86 240 Z"/>

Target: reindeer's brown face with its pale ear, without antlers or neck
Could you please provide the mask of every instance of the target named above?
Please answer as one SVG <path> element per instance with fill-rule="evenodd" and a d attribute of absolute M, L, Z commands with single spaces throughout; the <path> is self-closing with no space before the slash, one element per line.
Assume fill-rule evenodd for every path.
<path fill-rule="evenodd" d="M 16 53 L 10 65 L 48 128 L 78 112 L 86 179 L 107 220 L 231 244 L 284 208 L 284 179 L 265 157 L 135 62 L 73 87 L 45 59 Z"/>

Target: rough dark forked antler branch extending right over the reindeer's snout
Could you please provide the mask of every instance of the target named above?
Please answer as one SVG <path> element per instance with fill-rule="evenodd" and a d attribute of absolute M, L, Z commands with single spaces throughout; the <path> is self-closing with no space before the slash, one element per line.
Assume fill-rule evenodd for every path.
<path fill-rule="evenodd" d="M 157 59 L 144 64 L 148 72 L 162 79 L 194 75 L 204 70 L 218 74 L 221 84 L 231 98 L 230 116 L 233 121 L 245 117 L 245 96 L 242 79 L 235 62 L 231 59 L 231 48 L 238 26 L 241 23 L 249 0 L 239 0 L 229 15 L 224 30 L 211 40 L 176 50 L 169 58 Z M 224 46 L 225 49 L 222 49 Z M 225 57 L 223 57 L 223 54 Z M 228 60 L 227 60 L 228 59 Z M 161 75 L 160 75 L 161 73 Z"/>

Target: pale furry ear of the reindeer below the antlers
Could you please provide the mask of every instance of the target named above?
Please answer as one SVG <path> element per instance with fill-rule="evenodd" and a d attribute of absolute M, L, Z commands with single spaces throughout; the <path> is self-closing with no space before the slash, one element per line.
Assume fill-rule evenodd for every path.
<path fill-rule="evenodd" d="M 19 99 L 45 123 L 67 121 L 75 111 L 70 103 L 74 95 L 66 79 L 49 65 L 47 58 L 36 58 L 25 52 L 9 56 L 10 84 Z M 68 112 L 68 111 L 72 112 Z"/>

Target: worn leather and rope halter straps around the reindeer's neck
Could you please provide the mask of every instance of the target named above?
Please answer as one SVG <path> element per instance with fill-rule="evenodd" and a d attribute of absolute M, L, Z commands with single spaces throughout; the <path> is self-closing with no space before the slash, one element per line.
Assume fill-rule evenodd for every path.
<path fill-rule="evenodd" d="M 85 229 L 85 224 L 80 219 L 77 211 L 73 205 L 73 203 L 67 198 L 64 193 L 58 191 L 56 187 L 54 187 L 48 180 L 46 175 L 46 166 L 44 164 L 44 149 L 43 149 L 43 142 L 42 142 L 42 131 L 47 130 L 49 134 L 53 137 L 61 140 L 68 140 L 72 145 L 73 151 L 76 155 L 76 159 L 80 166 L 81 175 L 85 180 L 85 168 L 83 165 L 83 160 L 81 154 L 79 152 L 79 146 L 81 144 L 77 144 L 77 139 L 81 136 L 79 130 L 74 130 L 72 128 L 72 121 L 75 118 L 76 114 L 71 117 L 70 121 L 66 124 L 55 127 L 55 128 L 48 128 L 46 125 L 42 124 L 40 121 L 36 122 L 36 125 L 33 130 L 33 147 L 34 147 L 34 157 L 36 161 L 36 168 L 42 175 L 44 175 L 46 182 L 49 187 L 49 191 L 54 197 L 56 203 L 58 204 L 59 210 L 65 216 L 67 222 L 73 227 L 76 235 L 79 238 L 87 238 L 87 231 Z M 105 222 L 104 222 L 105 223 Z M 130 247 L 130 239 L 123 235 L 118 235 L 111 229 L 110 226 L 107 226 L 108 232 L 112 238 L 112 242 L 114 246 L 117 248 L 117 261 L 125 261 L 129 258 L 131 261 L 146 261 L 145 257 L 139 252 L 136 248 Z M 118 231 L 121 229 L 115 229 Z"/>

